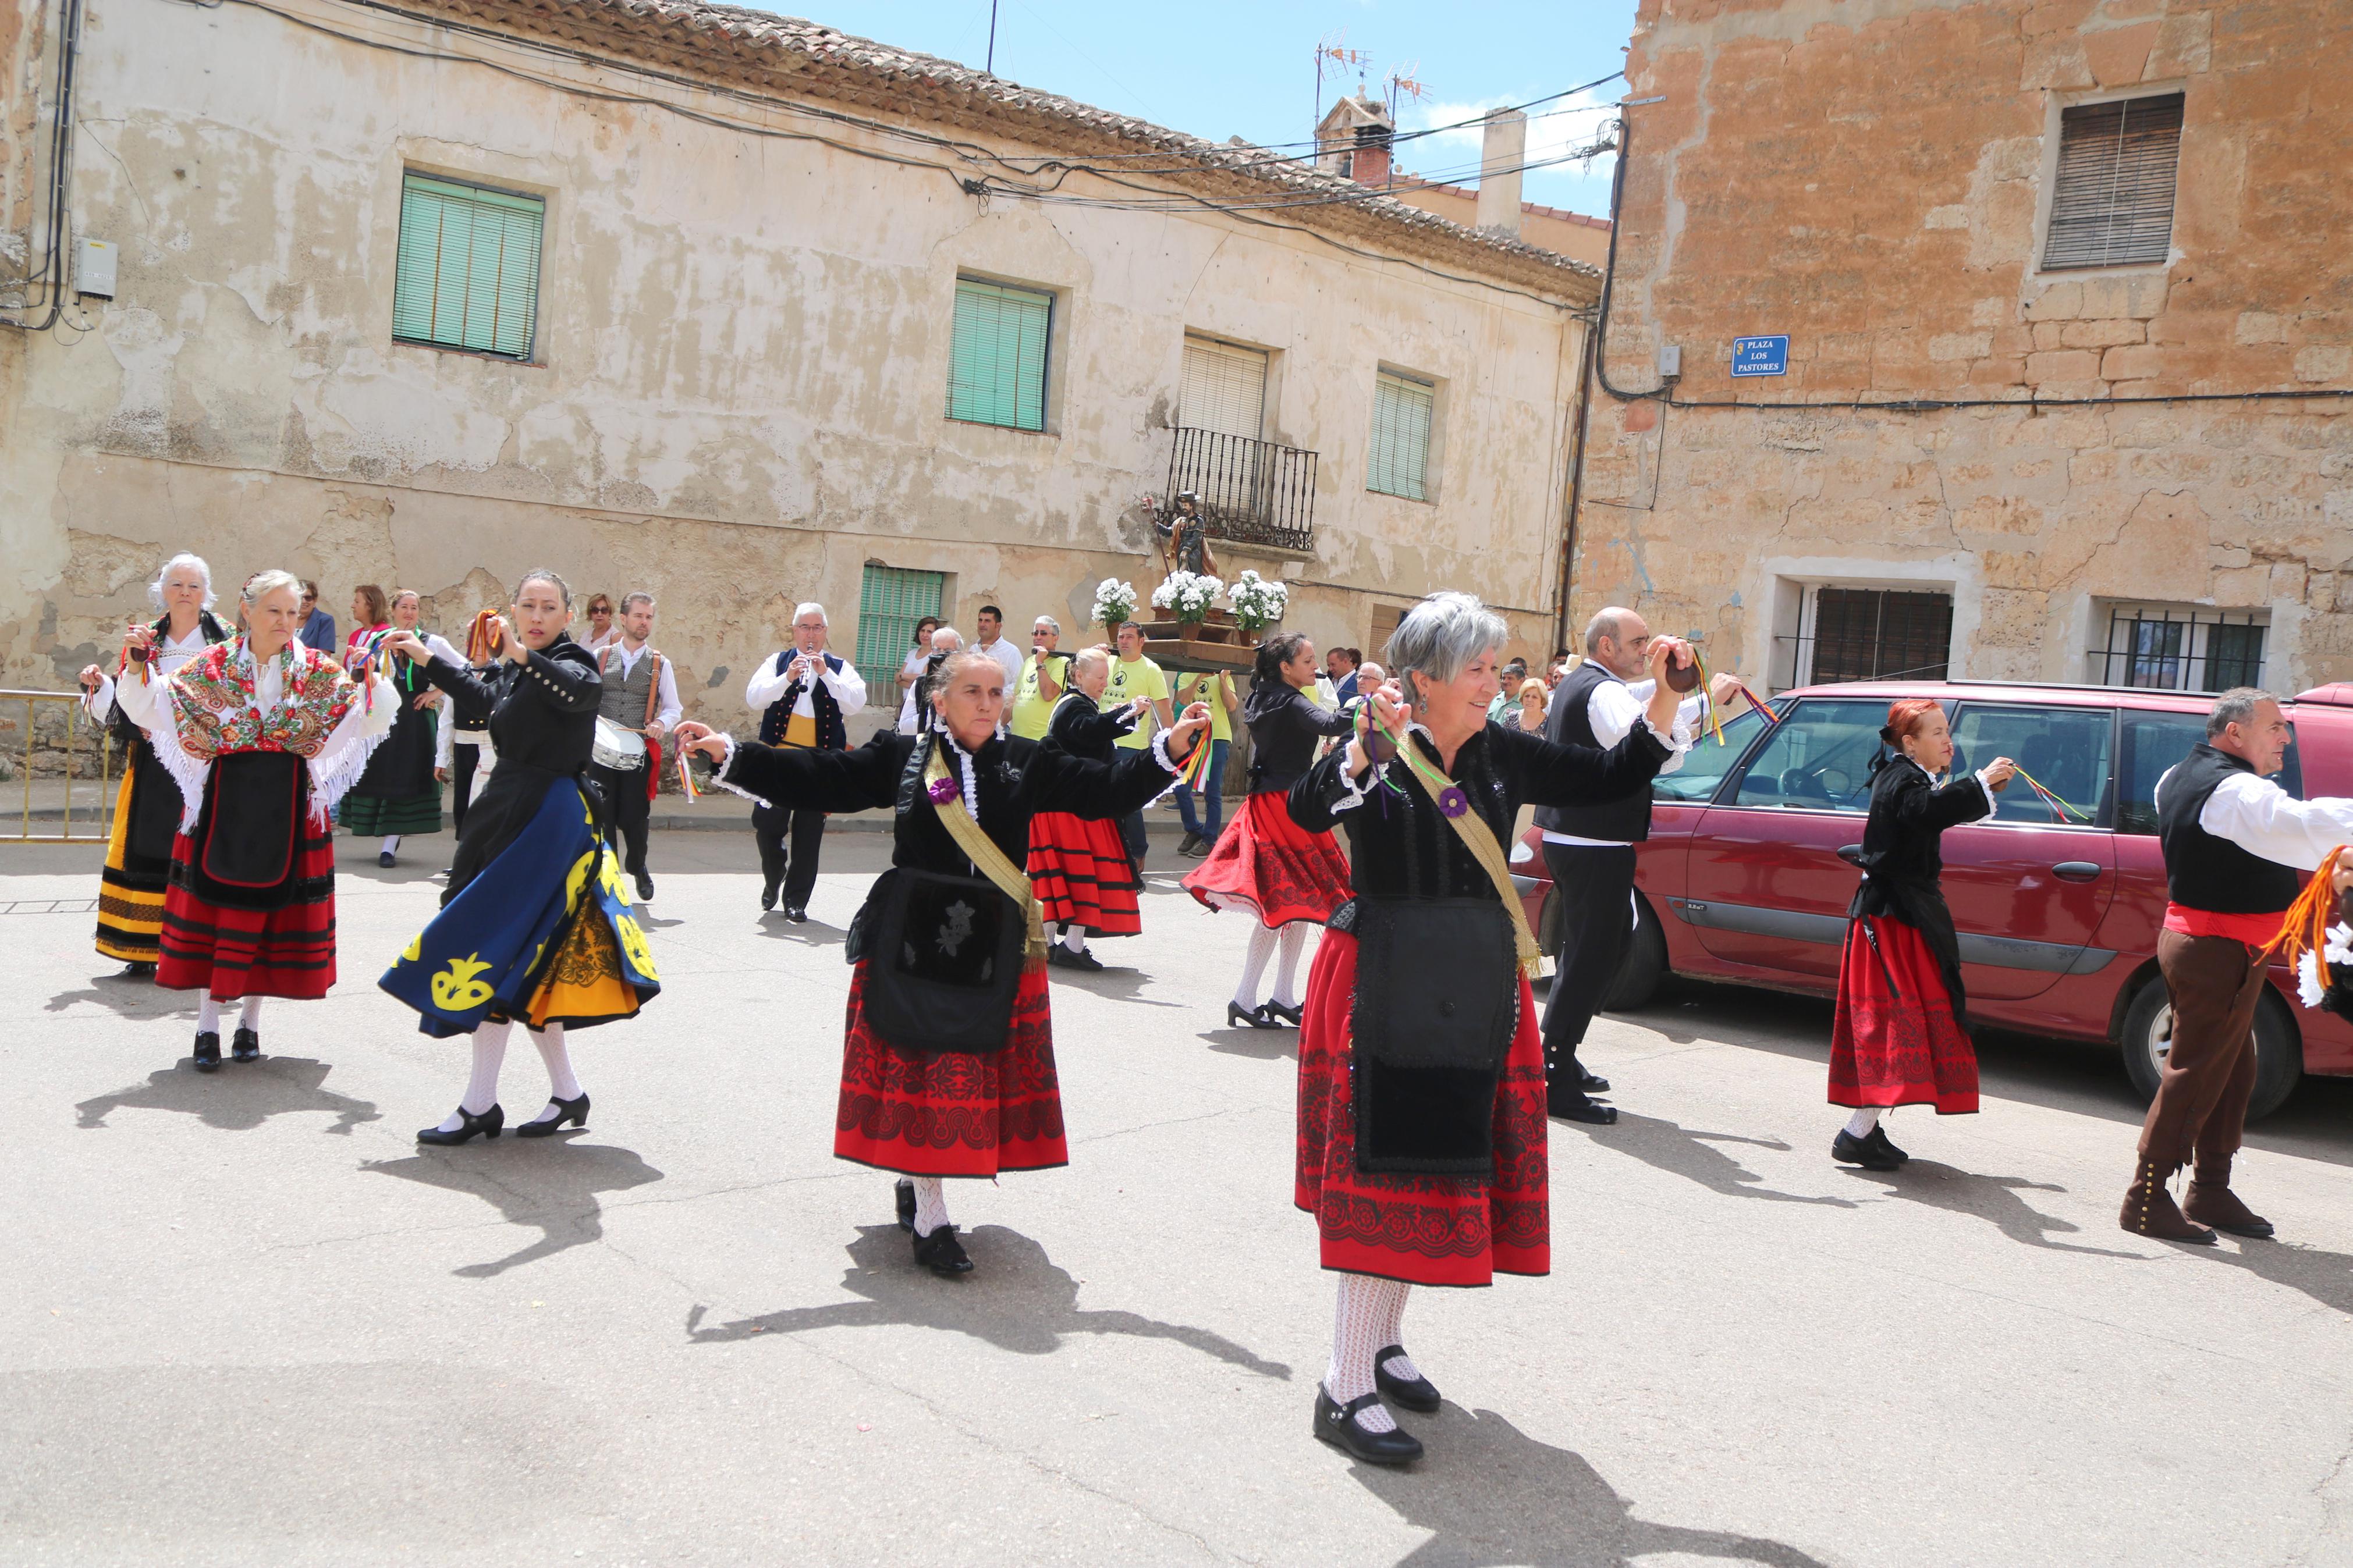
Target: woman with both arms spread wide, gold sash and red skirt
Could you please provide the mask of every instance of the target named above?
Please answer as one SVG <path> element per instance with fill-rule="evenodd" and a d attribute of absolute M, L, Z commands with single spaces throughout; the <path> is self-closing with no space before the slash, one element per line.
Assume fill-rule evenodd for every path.
<path fill-rule="evenodd" d="M 932 724 L 854 752 L 772 750 L 680 724 L 736 795 L 798 811 L 896 806 L 892 870 L 849 926 L 849 1016 L 833 1154 L 904 1173 L 915 1262 L 969 1274 L 944 1178 L 1071 1161 L 1054 1079 L 1045 926 L 1021 863 L 1031 818 L 1118 818 L 1167 788 L 1209 724 L 1186 712 L 1118 762 L 1002 738 L 1005 668 L 979 649 L 929 677 Z"/>

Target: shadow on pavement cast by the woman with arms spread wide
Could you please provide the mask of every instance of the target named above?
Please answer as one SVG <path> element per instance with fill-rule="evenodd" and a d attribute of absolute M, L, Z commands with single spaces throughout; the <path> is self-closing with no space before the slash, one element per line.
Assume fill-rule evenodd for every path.
<path fill-rule="evenodd" d="M 687 1314 L 687 1340 L 722 1345 L 765 1333 L 805 1333 L 812 1328 L 944 1328 L 969 1333 L 998 1349 L 1024 1356 L 1049 1356 L 1071 1333 L 1120 1333 L 1139 1340 L 1174 1340 L 1205 1356 L 1261 1378 L 1289 1380 L 1292 1368 L 1266 1361 L 1233 1340 L 1162 1324 L 1134 1312 L 1087 1312 L 1078 1305 L 1078 1281 L 1045 1255 L 1045 1248 L 1016 1229 L 981 1225 L 965 1232 L 972 1253 L 969 1279 L 936 1279 L 915 1267 L 906 1232 L 896 1225 L 861 1225 L 849 1244 L 849 1269 L 842 1288 L 864 1295 L 856 1302 L 826 1307 L 788 1307 L 767 1316 L 736 1319 L 704 1328 L 704 1307 Z"/>

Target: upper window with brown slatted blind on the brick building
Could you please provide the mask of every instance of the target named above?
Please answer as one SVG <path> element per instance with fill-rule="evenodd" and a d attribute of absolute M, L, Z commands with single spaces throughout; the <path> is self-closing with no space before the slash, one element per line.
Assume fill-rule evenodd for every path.
<path fill-rule="evenodd" d="M 2061 110 L 2042 270 L 2165 261 L 2179 160 L 2179 92 Z"/>

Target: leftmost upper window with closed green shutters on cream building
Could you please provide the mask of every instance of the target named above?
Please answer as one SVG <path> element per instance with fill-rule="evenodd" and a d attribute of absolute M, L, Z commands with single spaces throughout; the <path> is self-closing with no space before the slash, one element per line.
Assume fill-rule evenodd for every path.
<path fill-rule="evenodd" d="M 529 360 L 546 214 L 536 195 L 402 174 L 393 336 Z"/>

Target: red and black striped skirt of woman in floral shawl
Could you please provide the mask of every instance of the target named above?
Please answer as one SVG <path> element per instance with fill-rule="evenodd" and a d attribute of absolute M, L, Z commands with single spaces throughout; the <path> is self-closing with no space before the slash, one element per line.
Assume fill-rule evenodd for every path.
<path fill-rule="evenodd" d="M 162 896 L 155 985 L 238 997 L 315 1001 L 334 985 L 334 837 L 311 820 L 301 795 L 294 839 L 294 896 L 278 910 L 228 910 L 188 886 L 195 839 L 172 839 L 172 884 Z"/>

